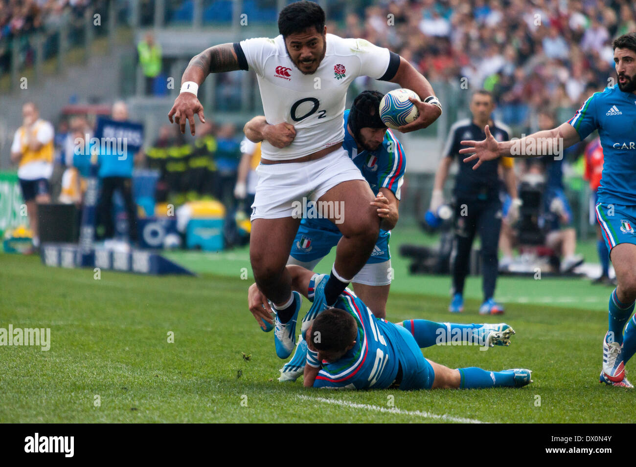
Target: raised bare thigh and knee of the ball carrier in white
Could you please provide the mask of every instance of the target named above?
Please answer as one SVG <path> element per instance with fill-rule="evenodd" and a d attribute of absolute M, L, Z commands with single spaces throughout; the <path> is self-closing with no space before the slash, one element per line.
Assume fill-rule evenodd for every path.
<path fill-rule="evenodd" d="M 375 200 L 369 184 L 364 180 L 347 180 L 319 198 L 319 202 L 338 203 L 338 216 L 329 220 L 340 229 L 345 236 L 356 236 L 367 229 L 378 230 L 380 221 L 376 208 L 371 206 Z M 335 212 L 334 204 L 334 212 Z"/>

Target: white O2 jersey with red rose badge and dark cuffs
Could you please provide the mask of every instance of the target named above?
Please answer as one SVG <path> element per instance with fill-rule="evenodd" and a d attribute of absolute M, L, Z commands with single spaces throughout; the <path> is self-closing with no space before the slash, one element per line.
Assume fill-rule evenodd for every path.
<path fill-rule="evenodd" d="M 241 69 L 252 69 L 258 76 L 267 123 L 287 122 L 296 129 L 293 142 L 282 149 L 263 141 L 263 159 L 301 158 L 342 142 L 350 83 L 358 76 L 387 81 L 396 74 L 399 55 L 388 49 L 333 34 L 326 35 L 326 43 L 324 58 L 313 74 L 296 68 L 282 35 L 234 44 Z"/>

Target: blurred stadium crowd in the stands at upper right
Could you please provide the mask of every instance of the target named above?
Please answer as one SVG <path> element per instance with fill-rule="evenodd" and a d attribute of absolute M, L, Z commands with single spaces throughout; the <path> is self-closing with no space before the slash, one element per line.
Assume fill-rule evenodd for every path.
<path fill-rule="evenodd" d="M 492 91 L 499 118 L 534 131 L 539 109 L 565 121 L 588 86 L 612 84 L 611 41 L 635 18 L 626 0 L 396 0 L 328 27 L 391 48 L 430 81 Z"/>

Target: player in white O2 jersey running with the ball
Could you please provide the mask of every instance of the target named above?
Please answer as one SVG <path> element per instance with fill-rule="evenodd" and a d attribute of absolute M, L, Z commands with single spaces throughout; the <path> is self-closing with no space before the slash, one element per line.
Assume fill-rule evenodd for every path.
<path fill-rule="evenodd" d="M 258 288 L 277 310 L 279 356 L 294 348 L 300 295 L 292 294 L 285 265 L 300 224 L 298 202 L 343 201 L 343 236 L 325 288 L 324 308 L 362 269 L 378 238 L 375 196 L 342 148 L 345 97 L 358 76 L 399 83 L 425 102 L 413 100 L 418 118 L 400 128 L 411 132 L 431 125 L 441 114 L 429 82 L 396 53 L 364 39 L 327 34 L 322 8 L 313 2 L 287 5 L 279 15 L 280 35 L 213 46 L 194 57 L 181 78 L 181 93 L 168 115 L 195 134 L 195 114 L 205 122 L 197 90 L 207 74 L 254 70 L 266 121 L 257 130 L 261 164 L 252 205 L 250 259 Z M 340 204 L 338 204 L 340 205 Z M 329 217 L 335 221 L 335 216 Z M 310 323 L 303 323 L 303 325 Z M 286 355 L 285 355 L 286 354 Z"/>

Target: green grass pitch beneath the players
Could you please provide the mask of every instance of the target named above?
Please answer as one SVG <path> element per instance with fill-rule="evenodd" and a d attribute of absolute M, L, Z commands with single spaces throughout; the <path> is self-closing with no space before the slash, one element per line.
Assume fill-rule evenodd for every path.
<path fill-rule="evenodd" d="M 174 255 L 188 262 L 194 254 Z M 282 360 L 273 334 L 259 330 L 246 307 L 247 250 L 213 257 L 196 258 L 216 274 L 102 271 L 95 280 L 92 269 L 0 254 L 0 328 L 51 328 L 48 351 L 0 347 L 0 422 L 602 423 L 608 413 L 636 421 L 633 393 L 598 383 L 611 288 L 502 278 L 501 295 L 528 299 L 508 302 L 505 321 L 517 331 L 509 348 L 425 350 L 449 367 L 530 368 L 534 383 L 525 388 L 331 392 L 276 380 Z M 450 279 L 408 277 L 406 262 L 394 258 L 389 319 L 482 321 L 480 280 L 469 278 L 466 312 L 451 316 Z M 581 300 L 550 306 L 546 296 Z"/>

